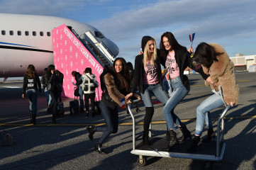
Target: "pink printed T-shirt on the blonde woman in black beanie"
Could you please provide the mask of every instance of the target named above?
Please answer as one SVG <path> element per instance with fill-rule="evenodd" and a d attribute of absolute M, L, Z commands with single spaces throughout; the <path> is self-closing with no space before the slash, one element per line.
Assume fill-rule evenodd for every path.
<path fill-rule="evenodd" d="M 157 67 L 148 61 L 144 66 L 145 72 L 143 73 L 143 84 L 157 84 L 159 78 L 157 77 Z"/>

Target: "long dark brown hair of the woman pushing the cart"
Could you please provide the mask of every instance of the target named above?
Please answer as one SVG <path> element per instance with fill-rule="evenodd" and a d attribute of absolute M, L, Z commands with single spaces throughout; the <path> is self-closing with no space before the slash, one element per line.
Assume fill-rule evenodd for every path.
<path fill-rule="evenodd" d="M 116 72 L 116 69 L 115 69 L 115 64 L 116 64 L 117 60 L 120 60 L 122 62 L 122 66 L 123 66 L 121 72 L 119 72 L 119 73 Z M 116 76 L 118 77 L 118 80 L 120 81 L 119 86 L 122 89 L 125 88 L 126 91 L 129 91 L 131 78 L 130 78 L 129 69 L 126 64 L 126 60 L 124 60 L 124 58 L 122 58 L 122 57 L 116 58 L 116 60 L 113 61 L 113 71 L 116 73 Z M 126 81 L 121 81 L 123 78 L 126 79 Z M 118 86 L 118 84 L 116 84 L 116 85 Z"/>

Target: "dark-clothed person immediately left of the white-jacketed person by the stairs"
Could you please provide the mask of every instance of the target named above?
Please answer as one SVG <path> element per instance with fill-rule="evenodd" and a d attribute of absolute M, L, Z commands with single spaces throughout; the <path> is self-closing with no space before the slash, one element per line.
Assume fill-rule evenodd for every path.
<path fill-rule="evenodd" d="M 82 75 L 79 72 L 73 71 L 72 76 L 76 80 L 76 83 L 72 82 L 73 85 L 77 86 L 79 93 L 79 101 L 80 101 L 80 111 L 79 113 L 84 113 L 84 91 L 82 90 Z"/>

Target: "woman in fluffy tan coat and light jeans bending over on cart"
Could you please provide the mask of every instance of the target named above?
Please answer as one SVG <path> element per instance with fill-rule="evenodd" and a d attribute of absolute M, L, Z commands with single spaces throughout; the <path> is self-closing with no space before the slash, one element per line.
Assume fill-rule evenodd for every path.
<path fill-rule="evenodd" d="M 221 45 L 215 43 L 201 42 L 196 47 L 194 60 L 202 64 L 204 72 L 210 75 L 211 81 L 206 81 L 206 86 L 211 86 L 212 90 L 221 92 L 206 98 L 200 106 L 196 108 L 196 132 L 188 152 L 196 152 L 201 145 L 200 136 L 204 130 L 204 120 L 208 124 L 208 133 L 203 142 L 211 142 L 216 134 L 213 132 L 210 111 L 223 104 L 234 106 L 238 103 L 239 89 L 235 82 L 234 64 L 229 59 L 228 54 Z M 221 90 L 219 90 L 221 86 Z M 223 96 L 223 97 L 222 97 Z"/>

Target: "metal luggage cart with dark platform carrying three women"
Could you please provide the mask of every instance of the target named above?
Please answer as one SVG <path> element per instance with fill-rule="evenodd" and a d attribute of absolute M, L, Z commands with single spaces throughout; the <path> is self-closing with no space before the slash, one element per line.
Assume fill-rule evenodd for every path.
<path fill-rule="evenodd" d="M 167 151 L 169 143 L 166 137 L 150 137 L 150 146 L 136 145 L 136 133 L 135 133 L 135 118 L 130 110 L 130 103 L 128 103 L 128 111 L 133 119 L 133 150 L 131 154 L 137 154 L 139 157 L 137 163 L 140 166 L 147 164 L 147 159 L 143 156 L 151 157 L 177 157 L 185 159 L 199 159 L 204 161 L 221 161 L 225 151 L 226 143 L 224 142 L 224 116 L 226 115 L 230 106 L 226 106 L 223 113 L 218 118 L 217 125 L 217 140 L 212 140 L 209 143 L 203 143 L 196 152 L 187 153 L 187 148 L 191 145 L 191 141 L 186 140 L 179 142 L 179 149 L 173 149 L 172 152 Z"/>

